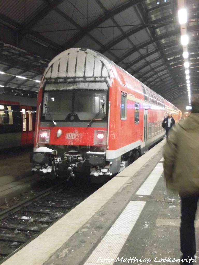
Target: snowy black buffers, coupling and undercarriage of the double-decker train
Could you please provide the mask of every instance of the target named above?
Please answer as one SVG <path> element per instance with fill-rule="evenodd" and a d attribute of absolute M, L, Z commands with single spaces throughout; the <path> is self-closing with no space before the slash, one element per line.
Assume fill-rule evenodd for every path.
<path fill-rule="evenodd" d="M 89 175 L 91 182 L 109 180 L 116 173 L 124 170 L 128 165 L 141 156 L 141 149 L 137 147 L 117 159 L 116 163 L 106 161 L 106 152 L 102 149 L 90 150 L 77 146 L 39 147 L 30 154 L 32 171 L 49 177 L 63 177 L 70 180 L 76 175 Z"/>

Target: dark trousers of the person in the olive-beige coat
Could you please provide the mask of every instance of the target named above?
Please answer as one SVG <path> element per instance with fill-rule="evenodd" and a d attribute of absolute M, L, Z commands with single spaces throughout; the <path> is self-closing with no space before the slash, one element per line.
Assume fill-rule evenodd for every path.
<path fill-rule="evenodd" d="M 196 238 L 194 220 L 196 217 L 198 196 L 181 197 L 181 225 L 180 225 L 180 250 L 183 259 L 194 259 L 196 254 Z M 189 263 L 191 264 L 191 263 Z"/>

